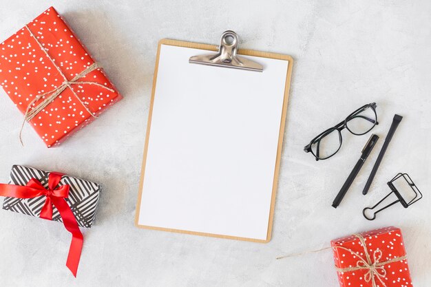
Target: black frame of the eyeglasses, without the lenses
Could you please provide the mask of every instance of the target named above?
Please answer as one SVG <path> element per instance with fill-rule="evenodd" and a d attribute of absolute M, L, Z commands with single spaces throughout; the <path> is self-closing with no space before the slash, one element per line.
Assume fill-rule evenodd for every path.
<path fill-rule="evenodd" d="M 376 103 L 370 103 L 368 105 L 363 105 L 362 107 L 359 107 L 359 109 L 357 109 L 356 111 L 353 111 L 352 114 L 348 115 L 347 118 L 345 120 L 343 120 L 341 123 L 335 125 L 334 127 L 331 127 L 330 129 L 326 129 L 326 131 L 322 132 L 321 134 L 319 134 L 318 136 L 316 136 L 315 138 L 313 138 L 313 140 L 311 140 L 311 142 L 306 145 L 304 147 L 304 151 L 306 153 L 311 152 L 313 154 L 313 156 L 315 156 L 316 161 L 317 160 L 326 160 L 332 156 L 335 155 L 335 153 L 337 153 L 339 151 L 339 149 L 341 148 L 341 145 L 343 144 L 343 137 L 341 136 L 341 131 L 343 129 L 347 129 L 348 131 L 350 131 L 351 134 L 354 134 L 355 136 L 362 136 L 364 134 L 367 134 L 370 130 L 372 130 L 376 125 L 379 125 L 379 122 L 377 121 L 377 112 L 376 112 L 376 107 L 377 104 Z M 361 116 L 358 115 L 360 114 L 362 111 L 365 111 L 366 109 L 371 108 L 372 111 L 374 111 L 375 114 L 375 120 L 373 120 L 372 118 L 367 118 L 366 116 Z M 355 132 L 353 132 L 351 129 L 349 129 L 348 127 L 348 121 L 349 120 L 353 120 L 354 118 L 364 118 L 365 120 L 368 120 L 370 123 L 373 123 L 374 125 L 372 125 L 372 127 L 370 129 L 368 129 L 368 131 L 365 131 L 362 134 L 356 134 Z M 332 133 L 333 131 L 337 130 L 338 131 L 338 136 L 339 136 L 339 147 L 337 149 L 337 151 L 335 151 L 333 154 L 331 154 L 330 156 L 327 156 L 326 158 L 320 158 L 319 157 L 319 145 L 320 145 L 320 140 L 322 140 L 322 138 L 324 138 L 325 136 L 327 136 L 328 134 Z M 317 142 L 317 148 L 316 148 L 316 153 L 317 155 L 313 152 L 313 149 L 311 148 L 315 143 Z"/>

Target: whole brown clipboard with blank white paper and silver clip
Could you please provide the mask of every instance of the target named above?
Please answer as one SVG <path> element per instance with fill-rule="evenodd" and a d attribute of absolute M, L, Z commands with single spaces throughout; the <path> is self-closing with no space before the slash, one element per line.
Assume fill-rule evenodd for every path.
<path fill-rule="evenodd" d="M 158 43 L 136 226 L 271 240 L 292 66 L 232 31 Z"/>

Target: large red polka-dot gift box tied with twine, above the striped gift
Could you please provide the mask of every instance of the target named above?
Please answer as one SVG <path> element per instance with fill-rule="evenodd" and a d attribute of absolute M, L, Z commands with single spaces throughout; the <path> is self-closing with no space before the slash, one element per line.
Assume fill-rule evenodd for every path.
<path fill-rule="evenodd" d="M 0 85 L 48 147 L 122 98 L 52 7 L 0 44 Z"/>

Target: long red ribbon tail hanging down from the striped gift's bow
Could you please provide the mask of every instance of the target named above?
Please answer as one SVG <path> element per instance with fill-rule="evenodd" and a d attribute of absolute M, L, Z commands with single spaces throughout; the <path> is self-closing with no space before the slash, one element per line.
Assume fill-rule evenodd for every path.
<path fill-rule="evenodd" d="M 59 210 L 63 224 L 67 231 L 72 233 L 72 242 L 70 242 L 69 254 L 67 255 L 66 266 L 72 272 L 74 277 L 78 271 L 79 259 L 81 259 L 81 251 L 83 248 L 84 237 L 79 230 L 78 222 L 63 198 L 52 198 L 52 203 Z"/>

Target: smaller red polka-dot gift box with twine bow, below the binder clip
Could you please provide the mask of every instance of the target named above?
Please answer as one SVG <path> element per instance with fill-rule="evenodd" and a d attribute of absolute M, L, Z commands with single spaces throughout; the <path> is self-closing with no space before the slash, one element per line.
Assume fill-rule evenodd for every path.
<path fill-rule="evenodd" d="M 330 243 L 341 287 L 412 287 L 401 229 L 390 226 Z"/>

